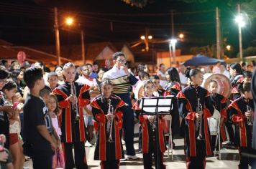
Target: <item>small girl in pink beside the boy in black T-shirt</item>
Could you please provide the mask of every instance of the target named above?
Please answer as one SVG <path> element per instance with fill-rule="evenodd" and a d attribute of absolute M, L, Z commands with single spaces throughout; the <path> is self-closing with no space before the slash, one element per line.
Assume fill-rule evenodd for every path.
<path fill-rule="evenodd" d="M 49 100 L 47 102 L 47 107 L 49 110 L 50 117 L 52 119 L 52 125 L 58 134 L 58 140 L 60 140 L 61 130 L 58 125 L 58 100 L 53 94 L 50 94 Z M 65 168 L 64 154 L 61 145 L 55 150 L 55 155 L 52 157 L 52 168 Z"/>

